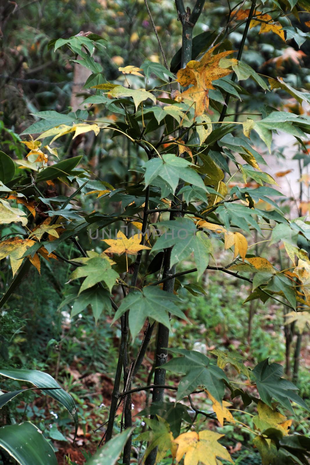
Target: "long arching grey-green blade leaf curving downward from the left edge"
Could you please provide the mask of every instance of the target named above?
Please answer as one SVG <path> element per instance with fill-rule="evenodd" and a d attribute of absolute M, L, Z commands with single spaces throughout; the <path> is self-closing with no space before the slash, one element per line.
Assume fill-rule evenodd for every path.
<path fill-rule="evenodd" d="M 75 433 L 78 429 L 78 413 L 74 404 L 74 400 L 64 389 L 59 386 L 57 381 L 51 375 L 38 370 L 19 370 L 11 368 L 10 370 L 0 370 L 0 375 L 7 378 L 17 379 L 18 381 L 29 381 L 37 387 L 57 387 L 60 389 L 49 392 L 49 395 L 60 402 L 71 413 L 75 424 Z"/>

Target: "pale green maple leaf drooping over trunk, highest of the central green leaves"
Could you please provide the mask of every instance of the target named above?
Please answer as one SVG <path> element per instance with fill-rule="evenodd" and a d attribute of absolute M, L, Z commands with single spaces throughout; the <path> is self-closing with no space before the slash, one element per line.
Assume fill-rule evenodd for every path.
<path fill-rule="evenodd" d="M 145 163 L 145 186 L 149 184 L 158 186 L 156 178 L 159 177 L 171 187 L 173 192 L 178 186 L 179 179 L 206 190 L 203 180 L 191 165 L 189 161 L 177 157 L 174 153 L 167 153 L 162 159 L 153 158 Z"/>

